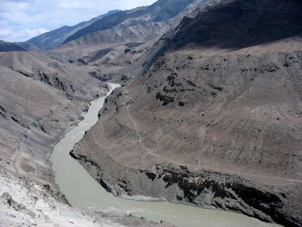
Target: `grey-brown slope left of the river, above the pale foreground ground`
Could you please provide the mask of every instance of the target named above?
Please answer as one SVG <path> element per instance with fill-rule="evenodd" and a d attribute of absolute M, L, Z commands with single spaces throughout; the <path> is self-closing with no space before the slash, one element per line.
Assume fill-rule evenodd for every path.
<path fill-rule="evenodd" d="M 1 53 L 0 68 L 1 166 L 52 184 L 51 145 L 107 85 L 41 52 Z"/>

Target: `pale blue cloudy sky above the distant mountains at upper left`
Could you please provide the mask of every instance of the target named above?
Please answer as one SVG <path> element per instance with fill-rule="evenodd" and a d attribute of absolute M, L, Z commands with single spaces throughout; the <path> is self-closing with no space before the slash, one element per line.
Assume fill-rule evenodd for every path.
<path fill-rule="evenodd" d="M 156 0 L 0 0 L 0 40 L 28 39 L 107 13 L 148 6 Z"/>

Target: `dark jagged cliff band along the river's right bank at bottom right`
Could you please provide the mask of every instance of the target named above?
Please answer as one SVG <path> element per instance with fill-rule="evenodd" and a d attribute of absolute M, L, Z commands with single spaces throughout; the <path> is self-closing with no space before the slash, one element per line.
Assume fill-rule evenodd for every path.
<path fill-rule="evenodd" d="M 186 166 L 160 163 L 143 171 L 119 167 L 103 152 L 103 162 L 70 154 L 108 191 L 116 196 L 142 195 L 171 202 L 241 212 L 283 226 L 301 226 L 301 185 L 270 186 L 229 174 L 190 171 Z M 112 167 L 114 166 L 114 167 Z M 108 175 L 109 169 L 111 172 Z"/>

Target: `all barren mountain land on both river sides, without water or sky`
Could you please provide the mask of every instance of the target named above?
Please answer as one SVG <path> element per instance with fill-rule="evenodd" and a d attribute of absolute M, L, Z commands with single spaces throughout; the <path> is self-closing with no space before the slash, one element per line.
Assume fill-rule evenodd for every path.
<path fill-rule="evenodd" d="M 116 82 L 70 152 L 107 191 L 302 226 L 301 8 L 158 1 L 1 41 L 0 225 L 170 226 L 83 214 L 54 185 L 52 147 Z"/>

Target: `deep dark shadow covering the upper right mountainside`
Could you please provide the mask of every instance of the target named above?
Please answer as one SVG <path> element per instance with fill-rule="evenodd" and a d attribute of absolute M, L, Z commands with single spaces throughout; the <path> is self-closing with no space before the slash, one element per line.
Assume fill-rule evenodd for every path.
<path fill-rule="evenodd" d="M 225 0 L 185 18 L 169 46 L 240 49 L 301 34 L 301 0 Z"/>

